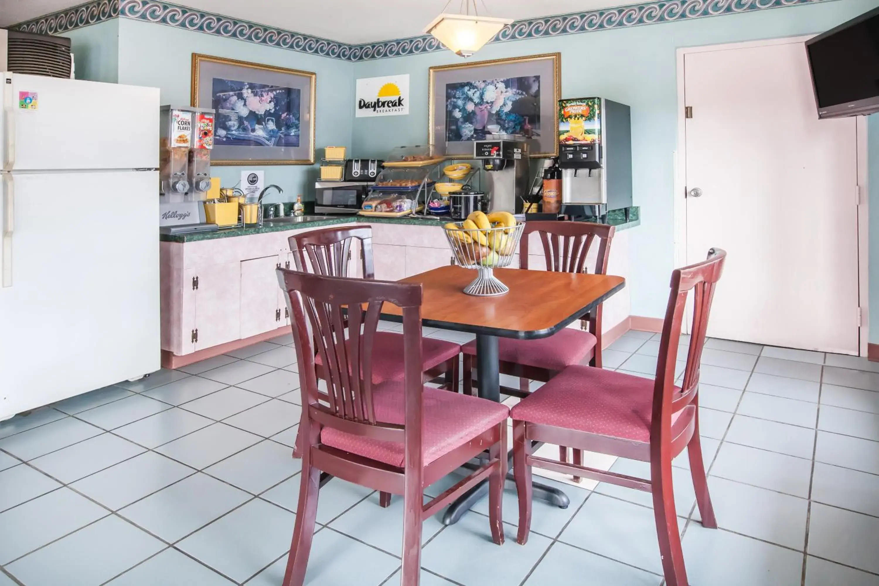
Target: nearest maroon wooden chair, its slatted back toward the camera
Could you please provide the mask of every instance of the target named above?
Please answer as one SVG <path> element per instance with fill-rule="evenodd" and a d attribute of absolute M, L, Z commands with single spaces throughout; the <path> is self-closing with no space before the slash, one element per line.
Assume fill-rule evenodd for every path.
<path fill-rule="evenodd" d="M 322 471 L 403 495 L 403 586 L 418 586 L 423 520 L 485 478 L 491 536 L 502 544 L 509 410 L 468 394 L 423 387 L 421 286 L 284 269 L 278 270 L 278 280 L 292 316 L 303 405 L 299 508 L 283 586 L 301 586 L 305 580 Z M 374 340 L 382 303 L 403 310 L 404 375 L 375 384 Z M 346 308 L 361 304 L 367 308 L 351 312 L 345 322 Z M 326 365 L 326 401 L 317 391 L 316 355 Z M 473 474 L 423 504 L 428 485 L 485 450 L 489 459 Z"/>

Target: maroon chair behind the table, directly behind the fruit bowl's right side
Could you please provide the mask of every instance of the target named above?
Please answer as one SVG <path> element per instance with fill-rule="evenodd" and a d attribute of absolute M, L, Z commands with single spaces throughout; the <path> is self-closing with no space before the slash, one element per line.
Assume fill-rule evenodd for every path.
<path fill-rule="evenodd" d="M 597 241 L 598 255 L 595 274 L 607 274 L 607 260 L 616 228 L 605 224 L 581 221 L 528 221 L 519 241 L 519 268 L 528 268 L 529 235 L 537 233 L 543 244 L 547 271 L 585 272 L 586 256 Z M 564 328 L 553 336 L 537 340 L 500 338 L 498 358 L 500 372 L 519 377 L 519 389 L 503 387 L 504 394 L 525 397 L 529 394 L 529 380 L 546 382 L 567 366 L 578 365 L 591 355 L 589 364 L 601 367 L 601 306 L 580 319 L 581 329 Z M 473 394 L 473 360 L 476 342 L 461 346 L 464 353 L 464 393 Z M 575 449 L 574 463 L 581 464 L 583 452 Z M 559 446 L 559 458 L 568 461 L 568 448 Z M 578 477 L 574 478 L 579 481 Z"/>

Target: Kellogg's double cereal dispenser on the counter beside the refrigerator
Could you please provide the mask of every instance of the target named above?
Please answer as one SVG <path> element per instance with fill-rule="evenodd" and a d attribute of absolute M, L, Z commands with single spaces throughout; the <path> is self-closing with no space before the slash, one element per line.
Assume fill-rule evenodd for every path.
<path fill-rule="evenodd" d="M 214 110 L 163 105 L 159 111 L 159 225 L 205 221 L 211 188 Z"/>

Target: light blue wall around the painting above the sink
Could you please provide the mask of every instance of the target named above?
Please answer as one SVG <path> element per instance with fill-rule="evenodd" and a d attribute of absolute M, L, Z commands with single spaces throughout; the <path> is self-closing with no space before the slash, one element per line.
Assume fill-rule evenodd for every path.
<path fill-rule="evenodd" d="M 324 146 L 351 146 L 352 63 L 125 18 L 115 22 L 120 29 L 119 83 L 158 87 L 162 90 L 163 104 L 188 105 L 193 53 L 314 71 L 317 74 L 316 160 L 320 161 Z M 313 198 L 316 165 L 214 166 L 212 174 L 221 177 L 224 186 L 232 186 L 238 183 L 245 169 L 265 170 L 265 183 L 278 184 L 284 189 L 280 198 L 266 195 L 266 202 L 294 200 L 298 193 L 305 199 Z"/>

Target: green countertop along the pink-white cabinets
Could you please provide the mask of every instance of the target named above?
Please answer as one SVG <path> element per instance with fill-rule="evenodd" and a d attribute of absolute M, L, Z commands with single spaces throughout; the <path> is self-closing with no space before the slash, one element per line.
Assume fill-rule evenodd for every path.
<path fill-rule="evenodd" d="M 641 225 L 640 209 L 635 207 L 629 208 L 628 221 L 626 221 L 623 210 L 614 211 L 608 214 L 607 223 L 616 226 L 617 230 L 625 230 L 627 228 L 635 228 Z M 201 240 L 214 240 L 214 238 L 229 238 L 231 236 L 247 236 L 252 234 L 265 234 L 267 232 L 284 232 L 287 230 L 299 230 L 301 228 L 320 228 L 321 226 L 332 226 L 333 224 L 350 224 L 369 223 L 369 224 L 409 224 L 418 226 L 442 226 L 449 221 L 448 218 L 422 218 L 415 216 L 403 216 L 402 218 L 377 218 L 361 215 L 343 215 L 338 218 L 329 220 L 303 221 L 296 223 L 265 222 L 261 227 L 252 226 L 245 228 L 222 228 L 215 232 L 199 232 L 193 234 L 160 234 L 159 240 L 162 242 L 199 242 Z"/>

